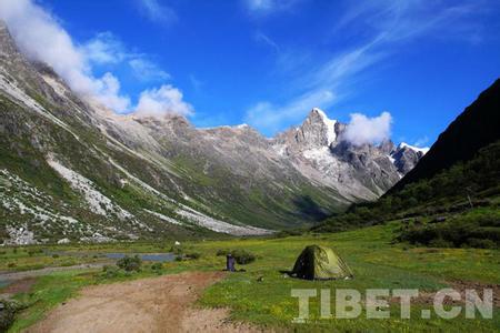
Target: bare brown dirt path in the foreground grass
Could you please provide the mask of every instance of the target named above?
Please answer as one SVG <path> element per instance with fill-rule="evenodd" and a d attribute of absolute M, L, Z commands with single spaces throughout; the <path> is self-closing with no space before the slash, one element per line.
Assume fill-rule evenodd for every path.
<path fill-rule="evenodd" d="M 227 322 L 228 311 L 193 307 L 222 272 L 188 272 L 87 287 L 28 332 L 260 332 Z"/>

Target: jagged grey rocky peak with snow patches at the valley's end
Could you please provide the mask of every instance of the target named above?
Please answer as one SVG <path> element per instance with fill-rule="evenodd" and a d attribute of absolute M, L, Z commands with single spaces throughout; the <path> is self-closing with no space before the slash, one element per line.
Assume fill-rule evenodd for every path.
<path fill-rule="evenodd" d="M 273 148 L 303 174 L 352 201 L 380 196 L 423 155 L 409 145 L 396 148 L 390 140 L 352 144 L 343 139 L 346 128 L 314 108 L 302 125 L 279 134 Z"/>

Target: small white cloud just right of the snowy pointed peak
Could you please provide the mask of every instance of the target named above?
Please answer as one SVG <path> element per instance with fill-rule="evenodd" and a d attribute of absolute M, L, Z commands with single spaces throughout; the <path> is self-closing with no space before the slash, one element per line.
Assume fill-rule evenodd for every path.
<path fill-rule="evenodd" d="M 389 139 L 392 117 L 382 112 L 379 117 L 368 118 L 361 113 L 352 113 L 342 139 L 353 144 L 378 143 Z"/>

